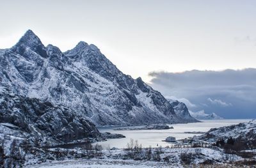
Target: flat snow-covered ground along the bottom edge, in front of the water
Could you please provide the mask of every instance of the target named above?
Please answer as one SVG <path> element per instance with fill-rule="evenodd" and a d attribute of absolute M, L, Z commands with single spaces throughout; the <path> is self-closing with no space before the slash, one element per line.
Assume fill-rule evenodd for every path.
<path fill-rule="evenodd" d="M 131 153 L 130 153 L 131 154 Z M 191 165 L 204 165 L 204 167 L 231 167 L 242 162 L 244 158 L 237 155 L 225 154 L 220 148 L 152 148 L 141 149 L 134 160 L 129 158 L 129 151 L 115 149 L 102 151 L 97 158 L 77 158 L 49 161 L 40 163 L 38 160 L 30 159 L 26 167 L 40 168 L 66 168 L 66 167 L 188 167 Z M 148 158 L 148 160 L 145 160 Z"/>

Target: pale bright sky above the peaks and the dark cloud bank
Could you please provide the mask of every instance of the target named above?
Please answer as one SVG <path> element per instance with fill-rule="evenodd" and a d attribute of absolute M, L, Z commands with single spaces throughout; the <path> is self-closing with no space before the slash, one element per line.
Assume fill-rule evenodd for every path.
<path fill-rule="evenodd" d="M 1 1 L 0 48 L 32 29 L 62 51 L 99 47 L 122 72 L 255 67 L 256 1 Z"/>

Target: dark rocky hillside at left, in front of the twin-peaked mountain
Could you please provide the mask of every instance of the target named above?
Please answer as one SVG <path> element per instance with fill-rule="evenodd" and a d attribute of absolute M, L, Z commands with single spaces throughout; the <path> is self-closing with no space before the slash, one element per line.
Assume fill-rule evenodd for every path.
<path fill-rule="evenodd" d="M 3 87 L 0 97 L 0 123 L 22 132 L 20 138 L 44 144 L 100 137 L 92 122 L 86 117 L 78 118 L 76 112 L 67 107 L 15 95 Z"/>

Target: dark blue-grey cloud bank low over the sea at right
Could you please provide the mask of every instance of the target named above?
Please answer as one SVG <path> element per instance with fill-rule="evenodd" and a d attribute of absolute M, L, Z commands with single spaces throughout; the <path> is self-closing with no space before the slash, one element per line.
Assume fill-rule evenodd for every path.
<path fill-rule="evenodd" d="M 188 100 L 191 111 L 204 109 L 223 118 L 256 118 L 256 68 L 149 75 L 153 77 L 151 86 L 166 97 Z"/>

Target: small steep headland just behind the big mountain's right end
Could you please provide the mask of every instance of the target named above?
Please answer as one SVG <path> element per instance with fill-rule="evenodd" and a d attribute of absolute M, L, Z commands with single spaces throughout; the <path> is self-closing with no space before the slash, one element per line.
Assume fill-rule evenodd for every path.
<path fill-rule="evenodd" d="M 170 99 L 168 99 L 168 101 L 171 103 L 175 111 L 175 114 L 177 116 L 179 116 L 180 118 L 184 118 L 186 119 L 186 121 L 189 121 L 189 122 L 197 121 L 195 118 L 191 116 L 191 114 L 189 114 L 188 107 L 186 106 L 185 103 L 179 102 L 177 100 L 170 100 Z"/>

